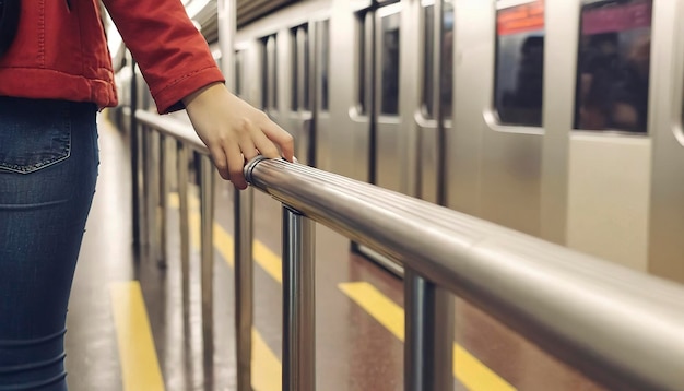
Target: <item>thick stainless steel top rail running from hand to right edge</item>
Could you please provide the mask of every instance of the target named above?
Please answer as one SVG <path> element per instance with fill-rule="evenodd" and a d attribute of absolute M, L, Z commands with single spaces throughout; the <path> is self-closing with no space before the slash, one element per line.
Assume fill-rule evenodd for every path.
<path fill-rule="evenodd" d="M 682 286 L 310 167 L 253 161 L 245 173 L 279 201 L 396 258 L 609 387 L 681 388 Z"/>

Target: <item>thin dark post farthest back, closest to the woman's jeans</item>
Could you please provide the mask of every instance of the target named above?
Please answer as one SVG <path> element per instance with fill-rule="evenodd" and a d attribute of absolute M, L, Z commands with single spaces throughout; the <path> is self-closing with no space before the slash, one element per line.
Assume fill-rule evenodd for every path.
<path fill-rule="evenodd" d="M 138 81 L 135 76 L 135 61 L 131 57 L 131 114 L 130 114 L 130 138 L 131 138 L 131 201 L 133 212 L 133 252 L 140 254 L 140 143 L 138 129 Z"/>

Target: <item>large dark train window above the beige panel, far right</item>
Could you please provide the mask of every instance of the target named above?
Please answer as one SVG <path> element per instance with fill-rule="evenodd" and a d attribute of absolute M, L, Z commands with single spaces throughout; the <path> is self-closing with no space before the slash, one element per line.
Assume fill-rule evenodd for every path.
<path fill-rule="evenodd" d="M 575 128 L 645 133 L 652 0 L 583 0 Z"/>

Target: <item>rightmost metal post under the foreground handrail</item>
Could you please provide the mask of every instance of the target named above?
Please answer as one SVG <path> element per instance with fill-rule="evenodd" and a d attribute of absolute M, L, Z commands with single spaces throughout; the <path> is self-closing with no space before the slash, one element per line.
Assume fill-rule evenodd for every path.
<path fill-rule="evenodd" d="M 406 341 L 404 389 L 453 388 L 453 298 L 445 289 L 405 269 Z"/>

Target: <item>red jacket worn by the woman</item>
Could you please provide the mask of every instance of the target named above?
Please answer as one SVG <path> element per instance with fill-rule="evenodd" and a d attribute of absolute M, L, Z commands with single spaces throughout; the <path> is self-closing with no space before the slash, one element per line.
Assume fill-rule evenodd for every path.
<path fill-rule="evenodd" d="M 179 0 L 104 0 L 160 114 L 223 82 Z M 69 7 L 70 4 L 70 7 Z M 96 0 L 23 0 L 16 38 L 0 58 L 0 96 L 116 106 L 111 59 Z"/>

